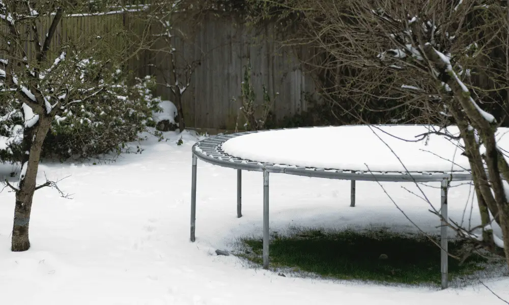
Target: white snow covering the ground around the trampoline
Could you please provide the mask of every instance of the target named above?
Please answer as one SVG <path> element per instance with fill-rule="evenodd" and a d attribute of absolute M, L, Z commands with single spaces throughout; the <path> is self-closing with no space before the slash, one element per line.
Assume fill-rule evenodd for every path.
<path fill-rule="evenodd" d="M 480 284 L 439 291 L 285 278 L 247 268 L 234 256 L 216 256 L 216 249 L 232 250 L 240 236 L 261 236 L 262 175 L 243 174 L 243 217 L 237 219 L 236 171 L 199 161 L 197 239 L 191 243 L 191 145 L 196 137 L 186 132 L 184 144 L 177 146 L 180 135 L 166 136 L 172 140 L 146 141 L 143 154 L 123 155 L 116 163 L 43 164 L 41 181 L 44 172 L 50 179 L 70 175 L 60 187 L 74 195 L 67 200 L 51 189 L 36 193 L 27 252 L 10 252 L 14 195 L 7 189 L 0 193 L 1 304 L 502 303 Z M 270 179 L 271 230 L 386 225 L 416 231 L 375 182 L 357 182 L 357 206 L 351 208 L 349 181 L 278 174 Z M 422 229 L 438 232 L 427 203 L 402 189 L 415 186 L 383 185 Z M 438 189 L 425 191 L 439 204 Z M 461 220 L 468 197 L 469 186 L 449 191 L 450 217 Z M 473 217 L 478 218 L 475 204 Z M 509 299 L 509 279 L 484 282 Z"/>

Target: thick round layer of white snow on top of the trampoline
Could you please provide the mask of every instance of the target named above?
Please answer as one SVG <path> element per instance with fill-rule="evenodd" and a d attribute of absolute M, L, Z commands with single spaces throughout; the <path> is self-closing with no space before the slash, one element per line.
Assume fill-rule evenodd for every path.
<path fill-rule="evenodd" d="M 222 144 L 222 149 L 231 156 L 246 160 L 325 169 L 377 172 L 468 170 L 468 159 L 461 155 L 463 150 L 458 146 L 463 142 L 429 134 L 439 130 L 436 126 L 271 130 L 229 139 Z M 509 149 L 509 137 L 504 136 L 507 131 L 509 129 L 499 128 L 497 140 L 499 146 Z M 458 135 L 459 130 L 449 127 L 447 132 Z M 423 137 L 424 134 L 429 136 Z"/>

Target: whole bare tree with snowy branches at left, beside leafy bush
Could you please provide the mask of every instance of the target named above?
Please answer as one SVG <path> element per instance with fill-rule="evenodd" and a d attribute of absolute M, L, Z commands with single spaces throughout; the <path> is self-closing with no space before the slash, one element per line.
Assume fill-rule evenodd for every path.
<path fill-rule="evenodd" d="M 30 248 L 35 191 L 56 187 L 52 181 L 36 184 L 42 145 L 52 121 L 65 119 L 69 105 L 84 103 L 114 86 L 97 79 L 100 71 L 107 65 L 125 63 L 150 43 L 144 37 L 132 40 L 131 33 L 123 27 L 83 31 L 78 37 L 59 36 L 66 18 L 87 16 L 89 9 L 88 1 L 0 0 L 0 55 L 4 57 L 0 60 L 0 123 L 10 132 L 2 137 L 0 146 L 8 154 L 15 149 L 22 153 L 19 183 L 6 181 L 16 193 L 12 251 Z M 150 20 L 144 20 L 149 21 L 148 26 Z M 42 32 L 44 28 L 47 30 Z M 31 45 L 29 51 L 26 44 Z M 123 52 L 128 46 L 134 51 Z M 100 65 L 91 64 L 98 56 L 107 59 Z"/>

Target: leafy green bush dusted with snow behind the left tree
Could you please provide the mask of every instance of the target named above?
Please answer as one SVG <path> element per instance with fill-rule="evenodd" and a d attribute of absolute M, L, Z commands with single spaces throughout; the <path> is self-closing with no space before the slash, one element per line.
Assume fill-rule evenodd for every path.
<path fill-rule="evenodd" d="M 152 95 L 154 78 L 135 78 L 134 85 L 129 85 L 129 74 L 105 69 L 100 62 L 83 60 L 80 68 L 84 77 L 95 75 L 97 82 L 108 83 L 107 88 L 86 102 L 69 105 L 62 117 L 55 117 L 43 147 L 45 157 L 63 160 L 120 154 L 127 142 L 155 126 L 152 113 L 161 109 L 160 99 Z"/>

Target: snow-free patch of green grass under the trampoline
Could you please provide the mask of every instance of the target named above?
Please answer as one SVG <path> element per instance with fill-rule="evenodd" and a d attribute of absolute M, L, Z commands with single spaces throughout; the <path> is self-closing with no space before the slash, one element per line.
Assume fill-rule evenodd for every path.
<path fill-rule="evenodd" d="M 433 236 L 439 240 L 437 236 Z M 262 264 L 259 237 L 241 239 L 239 256 Z M 449 242 L 457 253 L 462 242 Z M 471 275 L 484 269 L 488 259 L 472 255 L 462 265 L 449 257 L 449 277 Z M 387 230 L 336 231 L 310 229 L 292 236 L 272 236 L 270 266 L 274 269 L 312 272 L 326 278 L 388 283 L 440 283 L 440 248 L 424 235 Z"/>

